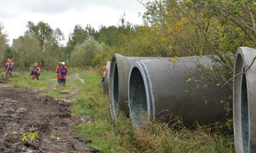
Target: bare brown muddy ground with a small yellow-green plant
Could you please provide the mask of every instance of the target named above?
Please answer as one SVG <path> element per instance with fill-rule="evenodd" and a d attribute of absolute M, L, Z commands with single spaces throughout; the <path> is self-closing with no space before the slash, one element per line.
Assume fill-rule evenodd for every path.
<path fill-rule="evenodd" d="M 73 132 L 71 103 L 36 93 L 0 84 L 0 152 L 98 152 Z"/>

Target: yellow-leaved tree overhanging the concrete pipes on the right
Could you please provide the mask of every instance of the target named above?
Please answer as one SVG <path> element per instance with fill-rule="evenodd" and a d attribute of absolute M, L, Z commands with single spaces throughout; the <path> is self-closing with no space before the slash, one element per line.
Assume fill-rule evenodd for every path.
<path fill-rule="evenodd" d="M 230 54 L 239 46 L 255 46 L 256 10 L 251 0 L 155 0 L 143 5 L 147 9 L 143 19 L 151 27 L 149 32 L 155 33 L 158 52 L 166 50 L 172 56 L 211 54 L 225 69 L 218 71 L 222 82 L 232 75 Z"/>

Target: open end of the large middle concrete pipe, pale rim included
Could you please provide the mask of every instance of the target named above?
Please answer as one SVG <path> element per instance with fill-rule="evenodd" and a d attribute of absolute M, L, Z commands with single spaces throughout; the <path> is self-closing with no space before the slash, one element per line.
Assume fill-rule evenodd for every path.
<path fill-rule="evenodd" d="M 148 90 L 148 88 L 151 87 L 149 87 L 150 85 L 147 81 L 148 75 L 146 75 L 145 71 L 146 70 L 145 68 L 143 68 L 143 64 L 140 61 L 137 61 L 134 62 L 133 66 L 131 66 L 131 70 L 129 73 L 129 111 L 131 117 L 131 124 L 134 128 L 139 127 L 141 124 L 143 124 L 143 122 L 150 122 L 152 120 L 152 117 L 154 116 L 152 111 L 153 108 L 151 106 L 152 100 L 150 98 L 150 91 Z M 136 91 L 133 91 L 135 89 Z M 136 100 L 138 98 L 143 100 Z M 143 114 L 143 111 L 145 111 L 147 114 Z"/>

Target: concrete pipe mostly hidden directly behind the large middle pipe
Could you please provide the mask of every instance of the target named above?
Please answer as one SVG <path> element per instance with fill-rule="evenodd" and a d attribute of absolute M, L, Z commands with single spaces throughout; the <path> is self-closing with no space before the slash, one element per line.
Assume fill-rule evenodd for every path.
<path fill-rule="evenodd" d="M 109 105 L 113 121 L 117 120 L 120 111 L 129 114 L 128 107 L 128 79 L 131 62 L 149 57 L 125 57 L 113 54 L 109 71 Z"/>

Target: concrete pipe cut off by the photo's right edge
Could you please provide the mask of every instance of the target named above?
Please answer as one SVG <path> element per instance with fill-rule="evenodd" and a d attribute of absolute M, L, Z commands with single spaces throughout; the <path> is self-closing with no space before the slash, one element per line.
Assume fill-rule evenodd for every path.
<path fill-rule="evenodd" d="M 236 152 L 256 152 L 256 50 L 238 48 L 233 82 L 233 119 Z"/>

